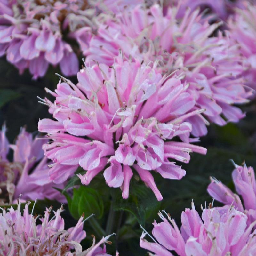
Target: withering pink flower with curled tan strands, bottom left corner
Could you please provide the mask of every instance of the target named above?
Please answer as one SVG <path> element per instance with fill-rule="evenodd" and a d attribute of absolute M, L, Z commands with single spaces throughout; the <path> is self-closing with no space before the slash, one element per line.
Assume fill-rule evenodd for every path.
<path fill-rule="evenodd" d="M 64 219 L 60 216 L 63 211 L 61 206 L 54 216 L 49 219 L 52 207 L 46 208 L 44 217 L 38 218 L 28 213 L 28 202 L 25 205 L 23 215 L 20 210 L 20 200 L 18 209 L 12 207 L 6 212 L 2 209 L 0 214 L 0 254 L 5 255 L 66 255 L 66 256 L 107 256 L 106 247 L 101 244 L 108 243 L 110 236 L 103 237 L 97 244 L 93 237 L 93 244 L 83 251 L 79 244 L 85 237 L 83 230 L 84 221 L 82 216 L 75 227 L 64 229 Z M 38 219 L 42 224 L 36 224 Z M 74 252 L 71 252 L 74 249 Z M 110 255 L 109 255 L 110 256 Z"/>

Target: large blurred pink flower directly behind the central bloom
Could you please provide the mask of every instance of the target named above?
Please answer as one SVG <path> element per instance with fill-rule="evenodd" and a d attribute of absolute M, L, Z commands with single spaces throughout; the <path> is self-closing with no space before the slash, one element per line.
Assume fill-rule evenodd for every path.
<path fill-rule="evenodd" d="M 187 120 L 192 134 L 203 136 L 209 122 L 225 125 L 243 118 L 234 105 L 248 102 L 253 90 L 239 78 L 244 71 L 239 45 L 220 32 L 212 36 L 221 22 L 203 22 L 198 9 L 187 9 L 182 19 L 176 18 L 178 12 L 179 7 L 173 7 L 163 15 L 159 5 L 150 9 L 138 5 L 115 16 L 100 15 L 97 34 L 84 51 L 85 61 L 112 65 L 121 49 L 126 58 L 145 63 L 158 60 L 163 74 L 179 69 L 182 83 L 190 84 L 187 92 L 196 101 L 194 109 L 206 109 L 204 117 Z"/>

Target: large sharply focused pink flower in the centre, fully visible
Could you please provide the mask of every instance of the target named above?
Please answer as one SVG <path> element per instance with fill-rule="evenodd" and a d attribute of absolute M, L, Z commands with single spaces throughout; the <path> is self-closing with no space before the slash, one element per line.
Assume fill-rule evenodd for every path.
<path fill-rule="evenodd" d="M 205 148 L 190 144 L 198 139 L 189 138 L 192 126 L 184 122 L 204 110 L 192 111 L 195 101 L 178 76 L 161 76 L 155 66 L 118 57 L 112 67 L 81 69 L 77 78 L 77 85 L 63 78 L 55 92 L 47 89 L 56 100 L 45 103 L 57 121 L 38 122 L 38 130 L 52 139 L 43 148 L 54 162 L 53 182 L 65 181 L 80 165 L 87 171 L 78 175 L 83 184 L 103 171 L 108 186 L 120 187 L 127 198 L 137 171 L 162 200 L 152 170 L 181 179 L 185 170 L 169 159 L 188 163 L 190 152 L 206 154 Z M 172 141 L 176 136 L 181 142 Z"/>

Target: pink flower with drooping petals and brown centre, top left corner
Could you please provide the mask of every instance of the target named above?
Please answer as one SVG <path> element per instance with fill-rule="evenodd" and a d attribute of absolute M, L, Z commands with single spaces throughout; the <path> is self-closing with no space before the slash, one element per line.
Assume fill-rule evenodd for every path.
<path fill-rule="evenodd" d="M 0 4 L 1 56 L 6 53 L 20 73 L 29 68 L 34 79 L 44 76 L 49 64 L 59 64 L 66 76 L 76 75 L 79 63 L 75 52 L 79 49 L 67 39 L 82 27 L 91 29 L 89 18 L 95 9 L 88 8 L 83 0 L 1 0 Z"/>

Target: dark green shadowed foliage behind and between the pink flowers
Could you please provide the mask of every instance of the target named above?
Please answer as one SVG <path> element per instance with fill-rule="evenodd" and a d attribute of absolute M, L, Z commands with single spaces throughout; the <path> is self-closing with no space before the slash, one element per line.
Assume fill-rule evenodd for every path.
<path fill-rule="evenodd" d="M 7 137 L 11 143 L 18 135 L 20 127 L 26 126 L 28 132 L 36 134 L 39 118 L 50 117 L 48 108 L 38 103 L 37 96 L 44 98 L 44 87 L 54 90 L 59 80 L 55 72 L 58 70 L 50 68 L 43 79 L 33 81 L 28 71 L 20 76 L 11 64 L 0 59 L 0 125 L 6 122 Z M 76 77 L 71 80 L 76 83 Z M 75 219 L 82 213 L 85 217 L 94 213 L 95 216 L 85 224 L 87 238 L 84 245 L 90 246 L 91 234 L 101 238 L 115 232 L 116 236 L 111 239 L 112 246 L 107 245 L 109 253 L 118 249 L 122 256 L 146 255 L 146 251 L 139 247 L 140 224 L 151 230 L 151 223 L 157 218 L 159 209 L 165 209 L 180 224 L 180 214 L 186 207 L 190 207 L 192 199 L 198 210 L 205 201 L 206 204 L 212 201 L 206 192 L 210 176 L 233 189 L 233 165 L 229 159 L 233 159 L 236 164 L 245 160 L 248 166 L 256 167 L 255 100 L 242 109 L 247 112 L 247 116 L 240 123 L 209 127 L 208 135 L 200 143 L 208 149 L 207 155 L 193 154 L 190 163 L 184 166 L 187 175 L 182 180 L 166 180 L 160 178 L 160 175 L 154 176 L 164 197 L 162 202 L 156 201 L 151 190 L 142 185 L 136 175 L 131 182 L 128 200 L 122 199 L 118 189 L 104 186 L 102 174 L 93 179 L 88 187 L 80 187 L 80 181 L 74 177 L 63 192 L 68 198 L 66 211 L 62 215 L 65 223 L 68 227 L 73 226 Z M 36 203 L 35 212 L 42 214 L 45 207 L 50 205 L 54 209 L 59 207 L 57 202 L 45 200 Z"/>

